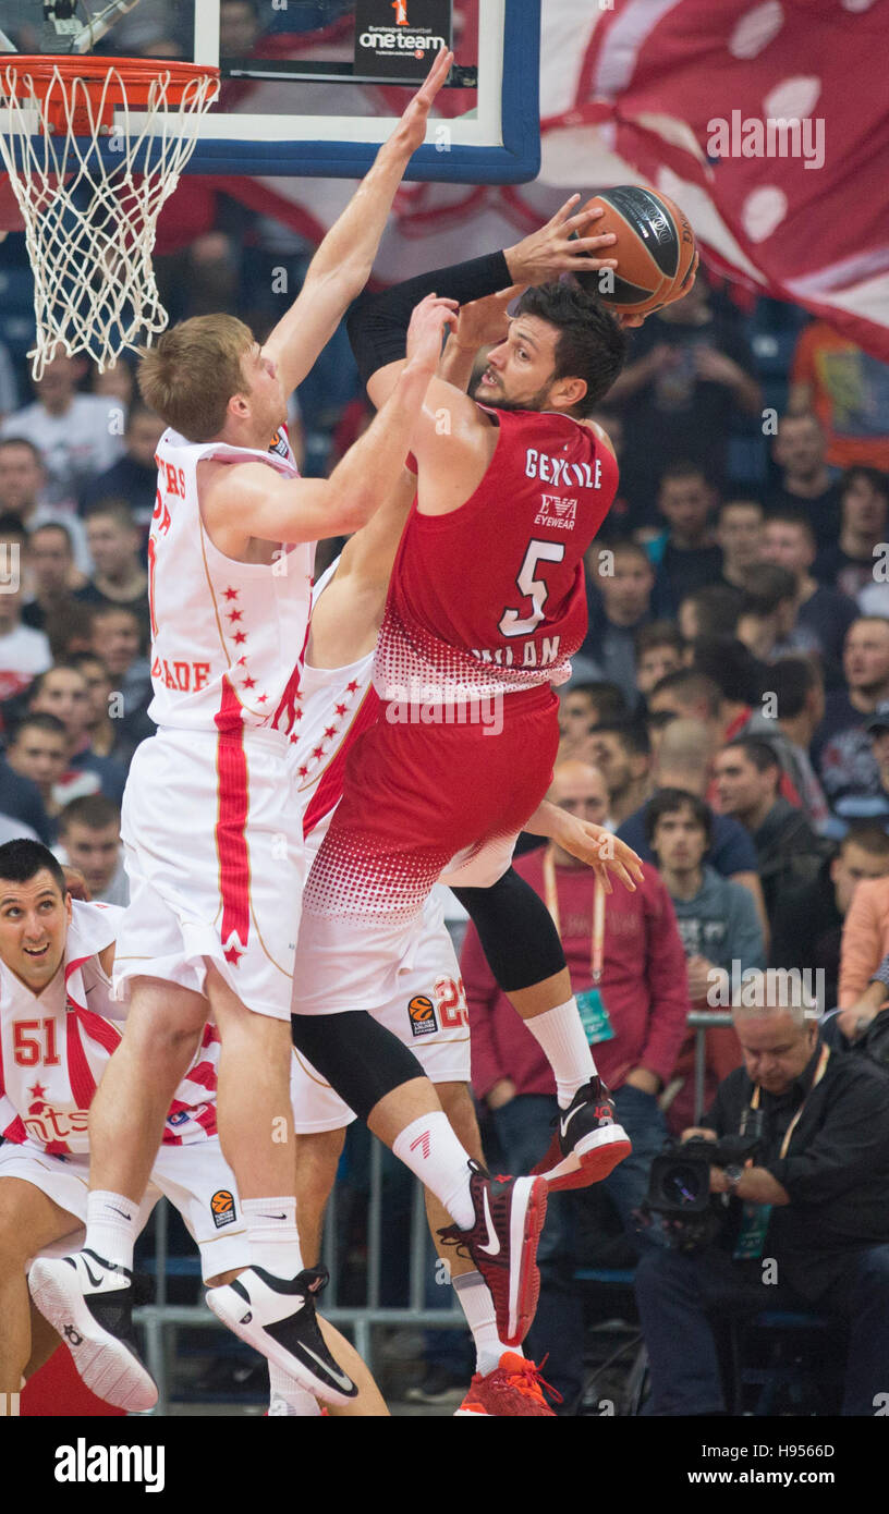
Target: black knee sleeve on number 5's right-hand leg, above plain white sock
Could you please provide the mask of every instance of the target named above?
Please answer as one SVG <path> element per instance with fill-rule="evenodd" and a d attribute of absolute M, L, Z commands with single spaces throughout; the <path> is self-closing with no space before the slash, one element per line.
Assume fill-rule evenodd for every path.
<path fill-rule="evenodd" d="M 504 993 L 562 972 L 565 952 L 553 916 L 515 868 L 489 889 L 454 889 L 454 896 L 479 931 L 488 966 Z"/>

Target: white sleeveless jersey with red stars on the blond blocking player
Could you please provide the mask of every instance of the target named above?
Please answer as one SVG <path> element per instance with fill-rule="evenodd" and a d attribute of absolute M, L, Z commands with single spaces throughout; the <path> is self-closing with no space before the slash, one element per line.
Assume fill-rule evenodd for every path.
<path fill-rule="evenodd" d="M 289 731 L 300 690 L 315 545 L 280 545 L 271 565 L 226 557 L 203 525 L 197 466 L 264 462 L 286 478 L 297 465 L 285 431 L 268 453 L 192 444 L 167 430 L 148 537 L 151 683 L 158 725 Z"/>

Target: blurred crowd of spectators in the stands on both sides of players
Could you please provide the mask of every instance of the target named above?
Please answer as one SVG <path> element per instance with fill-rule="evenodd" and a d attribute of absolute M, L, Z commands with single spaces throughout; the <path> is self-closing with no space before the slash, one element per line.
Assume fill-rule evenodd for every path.
<path fill-rule="evenodd" d="M 268 236 L 257 217 L 221 213 L 212 241 L 170 254 L 176 313 L 201 309 L 207 285 L 244 313 L 244 288 L 214 282 L 214 259 Z M 288 300 L 307 248 L 292 238 L 291 253 Z M 159 273 L 171 279 L 164 257 Z M 262 333 L 274 318 L 268 291 L 253 312 Z M 595 999 L 597 1060 L 635 1146 L 595 1196 L 597 1226 L 610 1204 L 610 1243 L 627 1264 L 657 1245 L 639 1222 L 653 1155 L 668 1131 L 701 1119 L 689 1011 L 724 1008 L 725 986 L 750 969 L 797 969 L 821 1014 L 841 1011 L 819 1031 L 839 1057 L 889 1002 L 878 978 L 889 954 L 886 372 L 824 322 L 798 321 L 783 375 L 763 388 L 756 347 L 769 318 L 742 315 L 700 277 L 692 297 L 635 333 L 597 416 L 621 483 L 586 559 L 589 633 L 560 690 L 551 798 L 616 831 L 647 877 L 636 895 L 609 899 L 595 992 L 592 875 L 557 849 L 530 846 L 518 860 L 559 913 L 576 993 Z M 0 356 L 11 375 L 0 418 L 0 837 L 38 836 L 80 868 L 94 898 L 120 904 L 120 801 L 153 730 L 145 542 L 162 424 L 126 359 L 98 375 L 58 356 L 32 385 L 21 362 Z M 339 339 L 300 404 L 306 466 L 321 472 L 367 416 Z M 294 407 L 297 438 L 298 418 Z M 507 1167 L 524 1169 L 547 1145 L 551 1073 L 471 928 L 462 967 L 488 1137 Z M 748 1049 L 733 1028 L 707 1034 L 706 1101 L 719 1119 Z M 550 1350 L 568 1403 L 582 1378 L 571 1276 L 597 1228 L 585 1204 L 551 1204 L 532 1340 Z M 668 1284 L 647 1266 L 656 1297 Z"/>

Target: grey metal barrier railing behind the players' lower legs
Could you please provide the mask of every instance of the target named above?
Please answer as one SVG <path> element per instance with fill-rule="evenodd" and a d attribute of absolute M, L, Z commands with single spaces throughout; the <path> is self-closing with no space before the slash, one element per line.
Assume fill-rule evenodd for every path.
<path fill-rule="evenodd" d="M 704 1111 L 706 1089 L 706 1036 L 707 1030 L 731 1025 L 728 1013 L 689 1013 L 688 1025 L 695 1031 L 695 1122 Z M 413 1181 L 410 1199 L 410 1238 L 409 1238 L 409 1273 L 407 1273 L 407 1305 L 383 1305 L 382 1266 L 383 1266 L 383 1148 L 371 1139 L 370 1148 L 370 1182 L 368 1182 L 368 1266 L 367 1266 L 367 1297 L 363 1304 L 339 1304 L 341 1266 L 336 1255 L 338 1235 L 338 1190 L 336 1184 L 330 1195 L 324 1223 L 324 1241 L 321 1260 L 330 1272 L 330 1284 L 324 1293 L 321 1313 L 336 1326 L 351 1329 L 356 1350 L 374 1372 L 374 1329 L 377 1326 L 413 1326 L 423 1329 L 459 1329 L 465 1326 L 463 1311 L 451 1290 L 451 1302 L 447 1308 L 430 1308 L 426 1302 L 429 1284 L 429 1264 L 432 1260 L 432 1241 L 426 1222 L 426 1204 L 423 1185 Z M 179 1329 L 212 1328 L 223 1331 L 220 1322 L 206 1304 L 170 1304 L 167 1287 L 168 1261 L 168 1210 L 162 1199 L 154 1211 L 154 1269 L 156 1294 L 154 1302 L 135 1311 L 135 1322 L 145 1332 L 145 1363 L 159 1388 L 158 1407 L 153 1414 L 167 1414 L 170 1407 L 170 1358 Z M 197 1276 L 197 1269 L 195 1269 Z"/>

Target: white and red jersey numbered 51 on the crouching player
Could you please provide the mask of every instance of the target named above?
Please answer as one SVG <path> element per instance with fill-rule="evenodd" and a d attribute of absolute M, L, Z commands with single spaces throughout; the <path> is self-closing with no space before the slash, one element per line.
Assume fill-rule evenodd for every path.
<path fill-rule="evenodd" d="M 39 995 L 0 961 L 0 1134 L 30 1140 L 51 1155 L 89 1151 L 88 1111 L 120 1043 L 126 1007 L 111 998 L 98 954 L 117 937 L 124 911 L 73 902 L 62 964 Z M 164 1143 L 215 1134 L 218 1031 L 203 1045 L 176 1090 Z"/>

